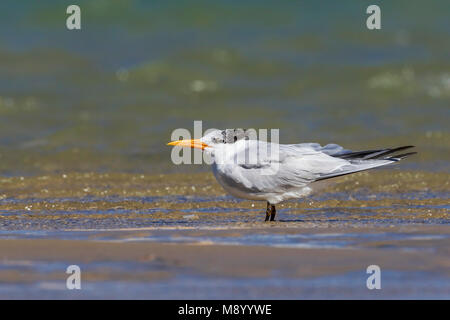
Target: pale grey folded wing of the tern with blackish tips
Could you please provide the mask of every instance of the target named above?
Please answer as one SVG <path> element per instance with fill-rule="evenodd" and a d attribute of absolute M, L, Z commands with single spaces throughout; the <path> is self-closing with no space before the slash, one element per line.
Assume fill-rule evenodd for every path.
<path fill-rule="evenodd" d="M 258 161 L 241 164 L 233 171 L 247 187 L 260 192 L 304 187 L 314 181 L 384 166 L 412 154 L 386 156 L 408 147 L 352 152 L 336 144 L 322 147 L 317 143 L 254 143 L 258 143 Z"/>

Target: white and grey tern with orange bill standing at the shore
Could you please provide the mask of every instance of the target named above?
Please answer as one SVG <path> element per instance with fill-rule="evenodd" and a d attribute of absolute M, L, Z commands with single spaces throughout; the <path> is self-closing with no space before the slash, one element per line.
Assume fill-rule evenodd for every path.
<path fill-rule="evenodd" d="M 416 153 L 392 155 L 413 146 L 353 152 L 337 144 L 277 144 L 253 139 L 251 132 L 213 130 L 201 139 L 168 145 L 206 152 L 214 176 L 226 191 L 238 198 L 267 201 L 265 221 L 275 220 L 276 204 L 306 197 L 321 188 L 324 180 L 384 166 Z"/>

